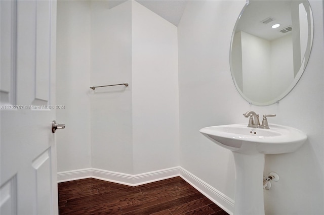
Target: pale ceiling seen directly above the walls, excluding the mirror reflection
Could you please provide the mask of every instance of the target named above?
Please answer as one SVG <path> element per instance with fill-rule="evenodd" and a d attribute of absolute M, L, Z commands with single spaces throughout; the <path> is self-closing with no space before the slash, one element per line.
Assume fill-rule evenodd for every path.
<path fill-rule="evenodd" d="M 178 26 L 183 14 L 186 0 L 135 0 L 160 17 Z M 120 5 L 127 0 L 108 0 L 109 8 Z"/>

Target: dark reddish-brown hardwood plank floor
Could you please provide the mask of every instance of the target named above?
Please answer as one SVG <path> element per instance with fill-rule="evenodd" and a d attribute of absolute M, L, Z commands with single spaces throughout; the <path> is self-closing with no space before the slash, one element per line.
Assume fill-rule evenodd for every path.
<path fill-rule="evenodd" d="M 131 187 L 98 179 L 58 184 L 60 214 L 218 214 L 219 206 L 180 177 Z"/>

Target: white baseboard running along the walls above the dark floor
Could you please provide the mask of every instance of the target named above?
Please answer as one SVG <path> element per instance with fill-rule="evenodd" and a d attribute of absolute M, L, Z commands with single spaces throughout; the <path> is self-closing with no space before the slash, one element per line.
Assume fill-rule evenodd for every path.
<path fill-rule="evenodd" d="M 137 186 L 147 184 L 154 181 L 160 181 L 168 178 L 180 176 L 187 181 L 191 186 L 203 193 L 207 198 L 215 202 L 223 210 L 229 214 L 233 214 L 234 200 L 224 195 L 214 187 L 210 186 L 203 180 L 194 176 L 182 167 L 173 167 L 164 170 L 158 170 L 137 175 L 125 173 L 117 173 L 96 168 L 87 168 L 81 170 L 59 172 L 57 174 L 58 182 L 73 181 L 77 179 L 96 178 L 104 181 L 115 182 L 129 186 Z"/>

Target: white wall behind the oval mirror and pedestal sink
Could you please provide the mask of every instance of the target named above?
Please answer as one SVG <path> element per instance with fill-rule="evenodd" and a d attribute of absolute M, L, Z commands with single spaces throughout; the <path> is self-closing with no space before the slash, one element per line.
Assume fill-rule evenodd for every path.
<path fill-rule="evenodd" d="M 232 30 L 245 1 L 192 1 L 178 26 L 180 166 L 234 199 L 231 153 L 200 128 L 248 123 L 242 113 L 277 114 L 269 123 L 308 135 L 295 153 L 266 155 L 265 172 L 278 182 L 265 193 L 266 214 L 323 214 L 323 3 L 310 1 L 314 43 L 308 66 L 293 91 L 278 104 L 249 105 L 236 91 L 229 68 Z M 226 20 L 226 22 L 224 22 Z"/>

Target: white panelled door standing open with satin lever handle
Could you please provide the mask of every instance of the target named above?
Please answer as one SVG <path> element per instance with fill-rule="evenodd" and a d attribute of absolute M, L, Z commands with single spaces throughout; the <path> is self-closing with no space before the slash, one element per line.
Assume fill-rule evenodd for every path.
<path fill-rule="evenodd" d="M 1 214 L 58 214 L 56 2 L 0 1 Z"/>

